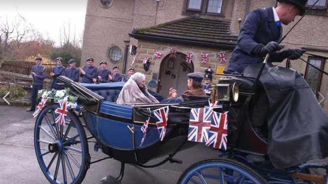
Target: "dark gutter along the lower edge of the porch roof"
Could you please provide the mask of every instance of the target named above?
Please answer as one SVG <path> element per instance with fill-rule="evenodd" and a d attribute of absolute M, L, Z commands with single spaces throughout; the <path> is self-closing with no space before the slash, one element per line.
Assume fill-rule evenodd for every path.
<path fill-rule="evenodd" d="M 192 44 L 198 46 L 206 46 L 206 47 L 220 47 L 225 49 L 234 49 L 236 44 L 220 44 L 214 42 L 202 42 L 195 40 L 183 40 L 173 37 L 159 37 L 159 36 L 151 36 L 151 35 L 141 35 L 136 33 L 129 33 L 129 36 L 135 39 L 145 39 L 145 40 L 158 40 L 158 41 L 166 41 L 173 43 L 182 43 L 182 44 Z"/>

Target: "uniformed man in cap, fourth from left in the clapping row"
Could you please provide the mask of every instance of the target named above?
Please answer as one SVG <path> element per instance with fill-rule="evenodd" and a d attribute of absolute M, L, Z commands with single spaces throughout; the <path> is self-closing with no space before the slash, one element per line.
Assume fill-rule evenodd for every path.
<path fill-rule="evenodd" d="M 80 77 L 82 83 L 93 83 L 93 79 L 96 78 L 97 68 L 93 65 L 93 58 L 86 59 L 86 65 L 83 68 L 80 67 Z"/>

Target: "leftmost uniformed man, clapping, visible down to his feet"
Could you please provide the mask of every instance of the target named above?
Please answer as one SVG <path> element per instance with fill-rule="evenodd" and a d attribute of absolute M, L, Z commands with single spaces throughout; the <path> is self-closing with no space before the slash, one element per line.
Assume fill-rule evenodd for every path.
<path fill-rule="evenodd" d="M 32 78 L 32 102 L 31 107 L 26 111 L 35 111 L 36 104 L 39 103 L 40 99 L 37 99 L 38 91 L 43 88 L 43 81 L 46 78 L 47 68 L 42 65 L 42 58 L 35 58 L 36 65 L 32 66 L 30 78 Z"/>

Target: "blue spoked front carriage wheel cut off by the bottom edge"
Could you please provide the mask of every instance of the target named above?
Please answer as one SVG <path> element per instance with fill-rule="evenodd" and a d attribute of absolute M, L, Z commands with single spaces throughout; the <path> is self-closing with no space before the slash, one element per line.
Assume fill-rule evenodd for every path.
<path fill-rule="evenodd" d="M 240 162 L 214 158 L 190 166 L 178 184 L 267 184 L 267 181 Z"/>

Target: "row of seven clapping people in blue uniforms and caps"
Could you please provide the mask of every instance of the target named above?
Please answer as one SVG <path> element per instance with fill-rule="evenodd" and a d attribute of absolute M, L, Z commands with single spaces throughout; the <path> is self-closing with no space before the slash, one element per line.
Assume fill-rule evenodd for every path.
<path fill-rule="evenodd" d="M 59 57 L 56 60 L 57 65 L 53 67 L 50 75 L 53 77 L 53 81 L 51 84 L 51 89 L 62 89 L 61 86 L 58 86 L 57 77 L 60 75 L 64 75 L 74 82 L 79 82 L 79 77 L 81 77 L 82 83 L 106 83 L 106 82 L 123 82 L 128 81 L 131 75 L 134 73 L 134 67 L 130 67 L 128 69 L 128 74 L 124 77 L 119 73 L 119 67 L 113 66 L 113 74 L 110 70 L 108 70 L 107 62 L 101 61 L 100 68 L 96 68 L 94 66 L 93 58 L 88 58 L 87 64 L 82 68 L 77 68 L 75 66 L 76 61 L 74 59 L 70 59 L 68 61 L 69 67 L 65 68 L 63 66 L 63 58 Z M 31 96 L 31 107 L 26 109 L 26 111 L 35 111 L 35 106 L 39 103 L 40 99 L 37 99 L 38 91 L 43 89 L 43 81 L 46 78 L 47 68 L 42 65 L 42 58 L 37 57 L 35 59 L 36 65 L 32 66 L 32 71 L 30 73 L 30 78 L 32 79 L 32 96 Z"/>

